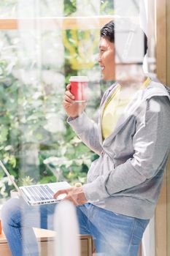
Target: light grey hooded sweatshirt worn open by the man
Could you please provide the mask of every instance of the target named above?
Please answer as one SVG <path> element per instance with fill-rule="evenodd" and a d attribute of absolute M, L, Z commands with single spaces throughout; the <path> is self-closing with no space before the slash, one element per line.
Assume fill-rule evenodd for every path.
<path fill-rule="evenodd" d="M 137 91 L 108 138 L 102 140 L 101 115 L 113 84 L 101 99 L 98 124 L 85 112 L 69 124 L 99 155 L 88 171 L 83 192 L 88 202 L 140 219 L 152 218 L 163 183 L 170 149 L 170 97 L 161 83 L 151 81 Z"/>

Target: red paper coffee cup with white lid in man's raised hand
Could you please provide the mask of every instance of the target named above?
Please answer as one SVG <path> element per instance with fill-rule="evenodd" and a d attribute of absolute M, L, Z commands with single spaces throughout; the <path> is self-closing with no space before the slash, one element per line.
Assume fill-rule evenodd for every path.
<path fill-rule="evenodd" d="M 74 95 L 76 102 L 87 101 L 88 77 L 74 76 L 69 79 L 71 93 Z"/>

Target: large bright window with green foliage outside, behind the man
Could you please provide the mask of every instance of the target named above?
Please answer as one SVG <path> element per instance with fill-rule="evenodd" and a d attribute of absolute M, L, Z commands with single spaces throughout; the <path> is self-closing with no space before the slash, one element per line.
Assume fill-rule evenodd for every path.
<path fill-rule="evenodd" d="M 138 73 L 148 45 L 144 70 L 156 79 L 155 1 L 8 0 L 0 3 L 0 17 L 0 159 L 18 185 L 84 184 L 97 155 L 66 123 L 66 84 L 71 75 L 88 75 L 86 111 L 97 121 L 108 87 L 97 63 L 99 29 L 125 18 L 139 29 L 132 27 L 129 34 L 125 23 L 116 26 L 115 78 L 123 78 L 123 70 L 129 77 Z M 2 171 L 0 178 L 0 197 L 9 197 L 12 185 Z"/>

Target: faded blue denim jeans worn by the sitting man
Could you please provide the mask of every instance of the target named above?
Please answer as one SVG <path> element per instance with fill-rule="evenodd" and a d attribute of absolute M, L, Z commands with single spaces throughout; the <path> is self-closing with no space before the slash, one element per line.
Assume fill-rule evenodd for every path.
<path fill-rule="evenodd" d="M 28 206 L 12 198 L 2 208 L 2 226 L 12 256 L 38 256 L 32 227 L 53 230 L 55 204 Z M 80 234 L 93 236 L 96 255 L 137 256 L 148 219 L 136 219 L 104 210 L 90 203 L 77 206 Z"/>

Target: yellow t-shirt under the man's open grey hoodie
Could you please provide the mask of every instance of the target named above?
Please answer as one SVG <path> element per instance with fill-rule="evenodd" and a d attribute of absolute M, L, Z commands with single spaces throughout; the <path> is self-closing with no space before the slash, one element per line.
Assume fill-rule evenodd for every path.
<path fill-rule="evenodd" d="M 150 83 L 150 78 L 144 81 L 140 89 L 147 87 Z M 138 91 L 138 89 L 136 89 Z M 135 91 L 135 92 L 136 92 Z M 118 118 L 123 114 L 125 107 L 131 102 L 134 97 L 134 91 L 130 94 L 130 91 L 122 89 L 122 86 L 118 85 L 114 93 L 107 99 L 104 105 L 104 110 L 101 119 L 101 132 L 103 139 L 109 137 L 117 124 Z"/>

